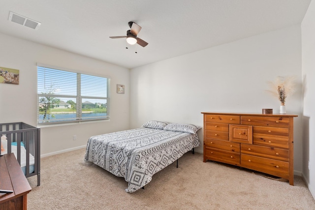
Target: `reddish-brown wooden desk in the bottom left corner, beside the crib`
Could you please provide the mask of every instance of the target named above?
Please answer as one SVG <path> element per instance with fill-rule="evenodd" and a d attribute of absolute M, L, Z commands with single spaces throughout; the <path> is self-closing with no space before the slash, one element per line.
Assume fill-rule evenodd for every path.
<path fill-rule="evenodd" d="M 26 210 L 27 194 L 32 190 L 13 153 L 0 156 L 0 210 Z"/>

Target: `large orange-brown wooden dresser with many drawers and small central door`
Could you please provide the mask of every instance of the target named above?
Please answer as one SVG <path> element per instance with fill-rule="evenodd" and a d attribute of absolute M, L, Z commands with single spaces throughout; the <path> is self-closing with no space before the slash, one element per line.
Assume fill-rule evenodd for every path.
<path fill-rule="evenodd" d="M 293 118 L 297 115 L 202 114 L 203 162 L 252 169 L 293 185 Z"/>

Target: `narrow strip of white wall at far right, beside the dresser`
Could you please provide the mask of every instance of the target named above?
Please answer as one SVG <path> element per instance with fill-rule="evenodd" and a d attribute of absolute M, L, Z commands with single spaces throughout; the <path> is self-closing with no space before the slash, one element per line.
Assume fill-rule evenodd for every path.
<path fill-rule="evenodd" d="M 302 22 L 302 78 L 303 177 L 315 198 L 315 1 L 311 1 Z"/>

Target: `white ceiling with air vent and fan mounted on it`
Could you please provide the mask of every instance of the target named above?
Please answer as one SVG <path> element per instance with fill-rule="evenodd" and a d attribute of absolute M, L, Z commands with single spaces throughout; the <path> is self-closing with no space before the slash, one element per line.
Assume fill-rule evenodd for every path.
<path fill-rule="evenodd" d="M 311 0 L 0 0 L 0 32 L 126 68 L 300 24 Z M 41 23 L 9 22 L 9 11 Z M 129 46 L 128 22 L 149 45 Z M 1 48 L 1 47 L 0 47 Z"/>

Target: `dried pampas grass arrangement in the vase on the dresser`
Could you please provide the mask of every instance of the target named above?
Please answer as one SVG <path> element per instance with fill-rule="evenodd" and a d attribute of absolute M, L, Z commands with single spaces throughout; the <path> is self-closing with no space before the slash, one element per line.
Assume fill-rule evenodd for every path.
<path fill-rule="evenodd" d="M 278 76 L 275 81 L 268 82 L 272 90 L 267 91 L 276 96 L 284 105 L 286 97 L 295 92 L 295 79 L 295 76 Z"/>

